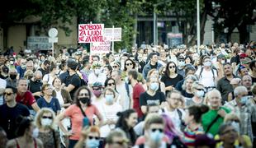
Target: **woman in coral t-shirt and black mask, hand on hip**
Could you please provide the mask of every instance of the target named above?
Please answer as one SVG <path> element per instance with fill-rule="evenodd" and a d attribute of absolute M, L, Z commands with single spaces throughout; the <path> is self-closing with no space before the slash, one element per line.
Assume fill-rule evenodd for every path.
<path fill-rule="evenodd" d="M 78 142 L 83 127 L 93 125 L 93 115 L 97 115 L 100 125 L 102 124 L 102 115 L 97 107 L 91 104 L 92 94 L 88 87 L 79 87 L 74 96 L 75 104 L 70 105 L 64 113 L 59 113 L 56 118 L 60 129 L 69 136 L 69 148 L 73 148 Z M 60 122 L 67 117 L 71 118 L 71 131 L 67 131 Z"/>

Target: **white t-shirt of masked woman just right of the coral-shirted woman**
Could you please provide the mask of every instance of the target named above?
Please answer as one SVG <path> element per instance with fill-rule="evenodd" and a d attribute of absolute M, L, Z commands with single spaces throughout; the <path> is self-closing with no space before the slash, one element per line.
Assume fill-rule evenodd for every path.
<path fill-rule="evenodd" d="M 100 113 L 102 114 L 103 121 L 106 122 L 107 120 L 114 120 L 117 121 L 118 117 L 116 113 L 121 112 L 121 105 L 120 104 L 102 104 L 100 108 L 98 108 Z M 101 136 L 107 137 L 111 129 L 115 128 L 115 124 L 105 125 L 100 128 Z"/>

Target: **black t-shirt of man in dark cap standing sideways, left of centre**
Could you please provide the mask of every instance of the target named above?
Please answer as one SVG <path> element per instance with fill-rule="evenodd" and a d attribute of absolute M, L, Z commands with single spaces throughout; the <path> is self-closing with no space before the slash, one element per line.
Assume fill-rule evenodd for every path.
<path fill-rule="evenodd" d="M 74 89 L 69 92 L 70 96 L 73 99 L 74 92 L 76 90 L 78 90 L 78 88 L 81 86 L 81 79 L 80 79 L 80 77 L 78 76 L 77 73 L 73 74 L 72 76 L 67 77 L 67 81 L 65 83 L 65 86 L 69 86 L 69 84 L 74 86 Z"/>

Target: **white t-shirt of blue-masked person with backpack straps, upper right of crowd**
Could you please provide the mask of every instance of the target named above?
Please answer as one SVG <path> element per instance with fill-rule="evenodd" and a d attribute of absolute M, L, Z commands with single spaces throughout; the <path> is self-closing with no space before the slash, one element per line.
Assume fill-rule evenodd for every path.
<path fill-rule="evenodd" d="M 199 76 L 199 81 L 203 86 L 205 87 L 216 86 L 216 82 L 213 79 L 213 73 L 211 69 L 210 71 L 206 71 L 205 69 L 203 69 L 203 71 L 201 72 L 201 76 L 200 76 L 200 72 L 201 72 L 201 68 L 198 68 L 196 75 Z M 213 72 L 214 72 L 214 76 L 217 77 L 217 71 L 214 69 Z"/>

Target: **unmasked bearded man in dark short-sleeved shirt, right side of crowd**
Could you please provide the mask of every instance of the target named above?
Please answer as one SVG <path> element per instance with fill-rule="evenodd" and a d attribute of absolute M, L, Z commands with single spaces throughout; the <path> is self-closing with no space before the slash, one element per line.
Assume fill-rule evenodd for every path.
<path fill-rule="evenodd" d="M 225 103 L 225 101 L 228 100 L 228 95 L 230 92 L 233 91 L 232 85 L 230 85 L 230 81 L 235 78 L 236 76 L 233 75 L 233 70 L 231 67 L 230 62 L 225 62 L 223 64 L 223 71 L 224 71 L 224 77 L 222 77 L 218 82 L 216 89 L 220 90 L 221 94 L 221 102 Z"/>

